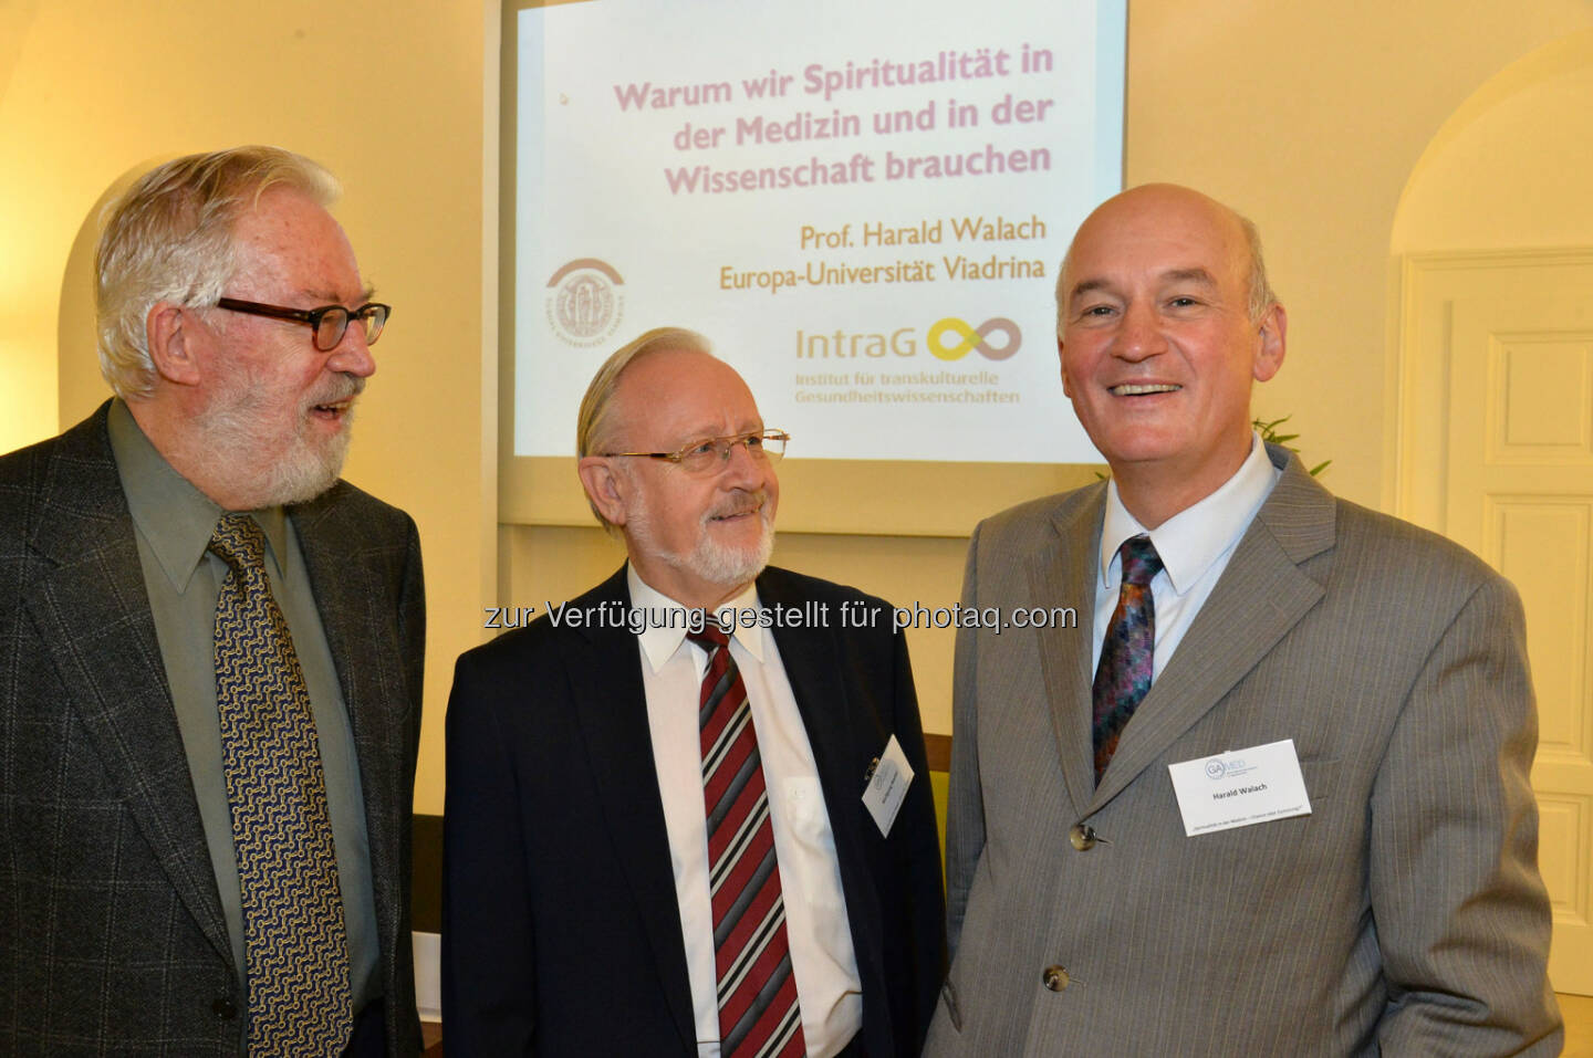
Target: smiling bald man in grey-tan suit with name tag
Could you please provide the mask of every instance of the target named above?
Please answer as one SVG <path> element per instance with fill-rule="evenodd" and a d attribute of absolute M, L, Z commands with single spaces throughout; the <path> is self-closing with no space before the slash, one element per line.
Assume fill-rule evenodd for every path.
<path fill-rule="evenodd" d="M 1251 428 L 1255 229 L 1144 186 L 1078 229 L 1063 387 L 1112 468 L 978 527 L 951 974 L 927 1055 L 1552 1055 L 1515 590 Z"/>

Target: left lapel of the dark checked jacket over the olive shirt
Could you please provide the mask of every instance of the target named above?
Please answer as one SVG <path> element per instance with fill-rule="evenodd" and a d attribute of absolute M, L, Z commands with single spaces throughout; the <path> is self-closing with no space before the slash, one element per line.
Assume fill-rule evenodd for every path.
<path fill-rule="evenodd" d="M 24 606 L 105 775 L 178 899 L 215 950 L 233 945 L 172 708 L 132 517 L 102 406 L 62 434 L 41 488 L 33 547 L 54 568 Z"/>

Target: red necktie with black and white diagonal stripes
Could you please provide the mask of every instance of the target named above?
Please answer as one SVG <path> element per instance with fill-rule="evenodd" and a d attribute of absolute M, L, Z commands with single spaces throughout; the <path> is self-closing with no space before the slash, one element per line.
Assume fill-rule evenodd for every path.
<path fill-rule="evenodd" d="M 698 725 L 720 1055 L 795 1058 L 806 1045 L 747 687 L 730 657 L 730 636 L 709 625 L 687 638 L 707 651 Z"/>

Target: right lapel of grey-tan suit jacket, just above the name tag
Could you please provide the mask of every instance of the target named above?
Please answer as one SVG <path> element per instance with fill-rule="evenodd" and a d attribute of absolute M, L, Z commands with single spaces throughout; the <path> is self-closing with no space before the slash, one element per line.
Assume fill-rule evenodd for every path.
<path fill-rule="evenodd" d="M 1333 498 L 1287 452 L 1270 455 L 1274 465 L 1287 460 L 1282 479 L 1123 730 L 1090 811 L 1157 762 L 1322 598 L 1300 563 L 1333 546 Z M 1211 751 L 1230 748 L 1238 746 Z"/>

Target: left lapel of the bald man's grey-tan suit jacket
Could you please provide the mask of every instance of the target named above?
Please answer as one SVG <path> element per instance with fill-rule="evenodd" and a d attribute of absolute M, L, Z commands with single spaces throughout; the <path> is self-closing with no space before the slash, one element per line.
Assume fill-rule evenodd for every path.
<path fill-rule="evenodd" d="M 1090 652 L 1094 635 L 1094 593 L 1101 515 L 1106 487 L 1064 506 L 1053 517 L 1056 536 L 1029 557 L 1032 605 L 1055 606 L 1061 600 L 1078 611 L 1078 627 L 1051 622 L 1035 632 L 1040 640 L 1040 670 L 1063 778 L 1074 808 L 1083 810 L 1094 797 L 1094 756 L 1090 735 Z"/>

